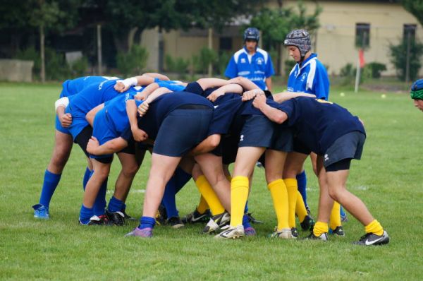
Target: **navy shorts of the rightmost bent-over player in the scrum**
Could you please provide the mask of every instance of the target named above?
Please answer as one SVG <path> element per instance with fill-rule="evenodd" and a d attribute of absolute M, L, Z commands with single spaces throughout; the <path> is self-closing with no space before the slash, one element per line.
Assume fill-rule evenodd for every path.
<path fill-rule="evenodd" d="M 360 131 L 353 131 L 339 137 L 324 153 L 324 167 L 344 159 L 360 160 L 365 140 L 366 135 Z"/>

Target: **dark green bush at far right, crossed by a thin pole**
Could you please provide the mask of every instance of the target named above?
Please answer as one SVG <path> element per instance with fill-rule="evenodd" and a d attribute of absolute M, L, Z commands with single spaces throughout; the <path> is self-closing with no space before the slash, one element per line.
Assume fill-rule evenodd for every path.
<path fill-rule="evenodd" d="M 405 80 L 405 73 L 407 68 L 407 42 L 403 40 L 398 45 L 389 45 L 389 55 L 391 56 L 391 62 L 396 68 L 396 73 L 400 80 Z M 419 73 L 420 57 L 423 54 L 423 44 L 413 40 L 410 44 L 410 80 L 415 80 Z"/>

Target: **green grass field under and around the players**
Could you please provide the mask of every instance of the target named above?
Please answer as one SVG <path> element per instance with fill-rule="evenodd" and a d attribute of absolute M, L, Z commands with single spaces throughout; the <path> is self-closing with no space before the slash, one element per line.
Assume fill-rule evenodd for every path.
<path fill-rule="evenodd" d="M 346 237 L 328 243 L 269 239 L 276 225 L 264 171 L 257 168 L 250 210 L 264 224 L 257 237 L 216 241 L 200 225 L 157 227 L 153 239 L 124 238 L 137 225 L 81 227 L 85 159 L 73 149 L 51 201 L 49 221 L 35 220 L 44 169 L 54 141 L 59 84 L 0 83 L 0 280 L 421 280 L 423 276 L 423 114 L 409 95 L 332 89 L 331 100 L 364 120 L 367 142 L 352 164 L 348 187 L 388 230 L 387 246 L 351 244 L 364 234 L 349 217 Z M 342 97 L 341 92 L 345 95 Z M 118 165 L 112 167 L 113 189 Z M 140 216 L 149 157 L 128 197 Z M 318 187 L 307 161 L 308 194 L 317 213 Z M 107 194 L 111 196 L 111 191 Z M 180 215 L 199 193 L 192 181 L 178 194 Z M 307 233 L 300 232 L 300 236 Z"/>

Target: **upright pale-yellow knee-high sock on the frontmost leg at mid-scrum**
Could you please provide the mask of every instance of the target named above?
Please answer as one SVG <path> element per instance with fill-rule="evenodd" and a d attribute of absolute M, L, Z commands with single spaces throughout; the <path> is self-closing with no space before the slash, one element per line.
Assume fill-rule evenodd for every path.
<path fill-rule="evenodd" d="M 245 203 L 248 198 L 248 178 L 234 177 L 231 181 L 231 227 L 243 224 Z"/>

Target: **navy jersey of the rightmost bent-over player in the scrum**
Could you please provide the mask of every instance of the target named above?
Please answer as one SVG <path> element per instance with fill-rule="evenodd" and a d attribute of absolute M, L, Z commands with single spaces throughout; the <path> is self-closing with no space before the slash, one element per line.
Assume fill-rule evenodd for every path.
<path fill-rule="evenodd" d="M 283 124 L 292 127 L 295 137 L 317 155 L 324 155 L 332 143 L 345 133 L 366 133 L 357 116 L 332 102 L 297 97 L 281 104 L 270 100 L 266 103 L 288 115 Z"/>

